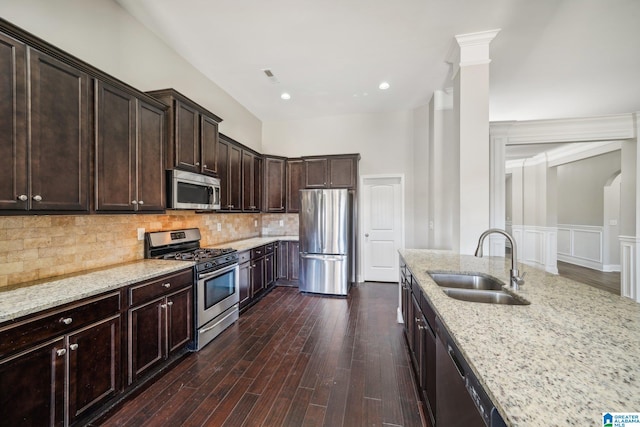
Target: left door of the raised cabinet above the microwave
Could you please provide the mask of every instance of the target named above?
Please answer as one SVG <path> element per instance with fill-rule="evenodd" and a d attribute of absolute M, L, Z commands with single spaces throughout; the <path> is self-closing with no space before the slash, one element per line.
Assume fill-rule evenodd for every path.
<path fill-rule="evenodd" d="M 200 114 L 195 108 L 176 100 L 175 115 L 176 167 L 200 172 Z"/>

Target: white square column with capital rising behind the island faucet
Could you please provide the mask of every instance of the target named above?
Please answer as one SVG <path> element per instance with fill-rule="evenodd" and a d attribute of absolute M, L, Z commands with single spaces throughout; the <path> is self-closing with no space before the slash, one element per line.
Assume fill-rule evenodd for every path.
<path fill-rule="evenodd" d="M 460 177 L 453 249 L 463 254 L 473 254 L 478 237 L 490 226 L 489 43 L 499 31 L 457 35 L 451 55 Z"/>

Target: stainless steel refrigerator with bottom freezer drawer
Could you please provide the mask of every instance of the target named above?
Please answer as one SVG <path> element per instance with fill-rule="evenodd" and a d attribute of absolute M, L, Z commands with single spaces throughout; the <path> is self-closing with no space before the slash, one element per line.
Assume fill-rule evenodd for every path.
<path fill-rule="evenodd" d="M 300 291 L 347 295 L 351 285 L 353 196 L 300 190 Z"/>

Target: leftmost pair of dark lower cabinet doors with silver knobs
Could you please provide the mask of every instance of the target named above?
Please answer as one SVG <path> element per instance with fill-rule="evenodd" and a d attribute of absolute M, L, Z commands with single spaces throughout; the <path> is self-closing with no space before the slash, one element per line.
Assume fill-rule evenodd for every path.
<path fill-rule="evenodd" d="M 120 315 L 0 361 L 0 382 L 2 423 L 73 424 L 121 390 Z"/>

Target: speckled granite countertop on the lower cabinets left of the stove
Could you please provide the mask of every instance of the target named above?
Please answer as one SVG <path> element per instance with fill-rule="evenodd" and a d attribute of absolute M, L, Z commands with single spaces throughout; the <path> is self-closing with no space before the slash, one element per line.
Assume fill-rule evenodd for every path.
<path fill-rule="evenodd" d="M 145 259 L 0 288 L 0 323 L 184 270 L 193 264 Z"/>

